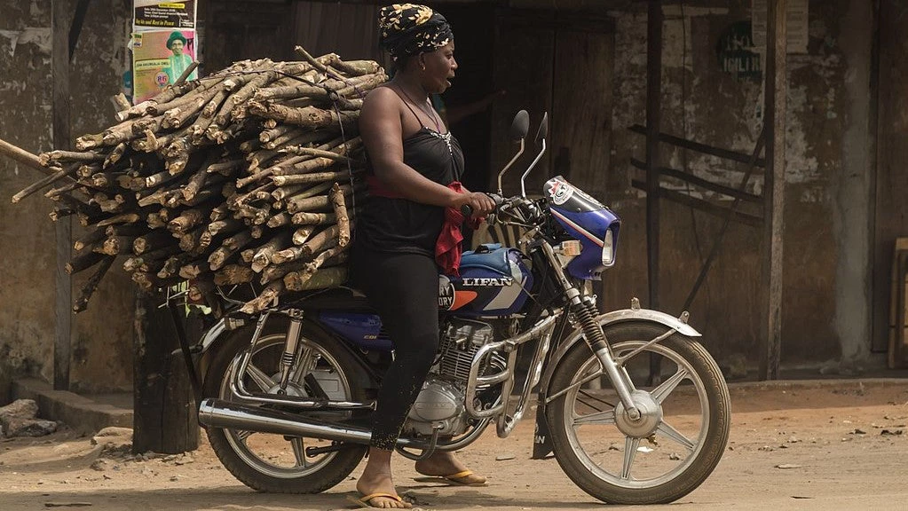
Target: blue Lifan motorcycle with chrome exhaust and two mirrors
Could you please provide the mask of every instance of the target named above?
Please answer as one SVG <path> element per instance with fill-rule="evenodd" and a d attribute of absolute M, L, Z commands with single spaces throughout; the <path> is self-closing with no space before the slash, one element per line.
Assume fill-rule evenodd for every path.
<path fill-rule="evenodd" d="M 524 182 L 547 132 L 548 116 L 521 193 L 502 198 L 502 176 L 525 149 L 528 114 L 518 113 L 511 136 L 520 148 L 498 174 L 489 221 L 521 229 L 518 247 L 481 245 L 463 254 L 459 276 L 439 275 L 438 357 L 397 450 L 420 459 L 460 449 L 493 423 L 508 437 L 538 388 L 538 422 L 577 486 L 610 504 L 675 501 L 725 450 L 725 379 L 686 312 L 675 318 L 635 299 L 598 313 L 591 283 L 615 264 L 620 221 L 560 176 L 528 198 Z M 217 457 L 260 491 L 337 485 L 366 454 L 375 392 L 393 357 L 378 315 L 348 287 L 310 291 L 255 317 L 236 311 L 241 300 L 222 299 L 232 310 L 195 349 L 211 349 L 199 421 Z M 515 392 L 524 351 L 530 362 Z"/>

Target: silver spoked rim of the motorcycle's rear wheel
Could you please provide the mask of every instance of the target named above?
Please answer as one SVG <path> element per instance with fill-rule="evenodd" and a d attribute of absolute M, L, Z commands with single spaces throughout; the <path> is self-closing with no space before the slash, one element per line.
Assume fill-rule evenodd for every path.
<path fill-rule="evenodd" d="M 247 366 L 246 373 L 243 375 L 246 388 L 252 392 L 274 393 L 280 382 L 278 360 L 281 357 L 284 340 L 285 336 L 282 334 L 272 334 L 259 339 L 255 349 L 252 351 L 252 358 Z M 303 392 L 302 378 L 305 378 L 307 374 L 333 374 L 341 384 L 341 387 L 336 390 L 342 391 L 343 398 L 350 399 L 350 381 L 341 370 L 337 359 L 334 359 L 331 353 L 309 339 L 301 338 L 300 341 L 303 345 L 301 359 L 310 359 L 311 364 L 309 364 L 309 367 L 311 367 L 311 370 L 302 370 L 298 378 L 291 378 L 291 383 L 288 385 L 289 393 L 294 391 Z M 240 358 L 241 356 L 238 355 L 233 359 L 230 370 L 222 378 L 219 390 L 220 398 L 222 399 L 243 402 L 242 399 L 234 398 L 230 390 L 230 380 L 235 371 L 239 369 Z M 247 401 L 246 404 L 254 403 Z M 293 437 L 288 440 L 281 435 L 269 435 L 238 429 L 222 429 L 222 431 L 233 452 L 246 465 L 269 477 L 289 479 L 309 476 L 321 470 L 338 454 L 331 452 L 316 457 L 307 457 L 305 455 L 306 447 L 331 445 L 330 441 L 321 439 Z"/>

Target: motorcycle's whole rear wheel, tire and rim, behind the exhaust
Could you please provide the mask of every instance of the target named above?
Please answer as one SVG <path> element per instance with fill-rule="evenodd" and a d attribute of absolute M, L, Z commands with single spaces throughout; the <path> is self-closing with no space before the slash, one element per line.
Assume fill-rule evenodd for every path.
<path fill-rule="evenodd" d="M 270 319 L 252 350 L 252 359 L 242 375 L 245 387 L 253 393 L 277 394 L 281 380 L 280 359 L 288 322 Z M 205 378 L 204 395 L 233 402 L 253 404 L 234 398 L 230 389 L 233 371 L 249 347 L 252 329 L 234 334 L 220 347 Z M 291 376 L 287 393 L 309 396 L 307 377 L 315 378 L 329 398 L 365 400 L 355 379 L 358 368 L 350 354 L 337 341 L 313 329 L 303 329 L 301 360 Z M 291 408 L 288 408 L 291 410 Z M 319 418 L 341 420 L 350 412 L 310 412 Z M 319 438 L 283 437 L 236 429 L 207 428 L 208 439 L 217 457 L 231 474 L 246 486 L 271 493 L 320 493 L 340 483 L 359 465 L 365 446 L 349 445 L 340 451 L 308 456 L 308 447 L 330 447 L 331 441 Z"/>

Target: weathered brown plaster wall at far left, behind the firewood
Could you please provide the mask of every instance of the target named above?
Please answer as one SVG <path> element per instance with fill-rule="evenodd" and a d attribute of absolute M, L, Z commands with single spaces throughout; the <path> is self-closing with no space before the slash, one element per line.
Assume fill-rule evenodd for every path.
<path fill-rule="evenodd" d="M 109 99 L 120 91 L 129 2 L 95 0 L 71 66 L 72 133 L 96 133 L 113 121 Z M 51 137 L 51 2 L 7 2 L 0 16 L 0 138 L 31 152 Z M 41 175 L 0 158 L 0 371 L 53 380 L 54 224 L 39 194 L 9 198 Z M 74 227 L 74 236 L 82 233 Z M 89 271 L 90 272 L 90 271 Z M 74 297 L 87 275 L 76 276 Z M 132 384 L 132 288 L 114 268 L 89 310 L 74 317 L 71 382 L 93 391 Z"/>

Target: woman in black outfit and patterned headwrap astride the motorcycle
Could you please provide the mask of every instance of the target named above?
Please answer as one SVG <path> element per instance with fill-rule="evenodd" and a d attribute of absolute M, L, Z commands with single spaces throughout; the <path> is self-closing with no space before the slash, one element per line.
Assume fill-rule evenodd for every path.
<path fill-rule="evenodd" d="M 397 72 L 369 93 L 360 112 L 370 201 L 357 220 L 351 277 L 378 310 L 395 358 L 382 381 L 369 462 L 356 487 L 367 506 L 406 508 L 394 489 L 390 457 L 438 351 L 435 247 L 445 208 L 469 204 L 481 216 L 494 202 L 485 193 L 448 186 L 463 173 L 463 154 L 429 103 L 458 68 L 445 18 L 424 5 L 390 5 L 380 11 L 380 32 Z M 417 462 L 416 470 L 455 484 L 485 482 L 448 452 Z"/>

